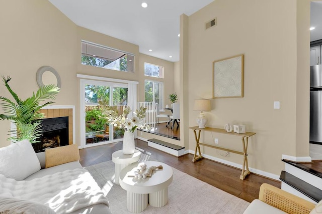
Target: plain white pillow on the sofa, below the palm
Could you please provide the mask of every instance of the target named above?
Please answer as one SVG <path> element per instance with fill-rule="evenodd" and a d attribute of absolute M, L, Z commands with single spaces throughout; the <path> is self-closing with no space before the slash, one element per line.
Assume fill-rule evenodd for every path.
<path fill-rule="evenodd" d="M 39 170 L 39 160 L 28 140 L 0 148 L 0 174 L 23 180 Z"/>

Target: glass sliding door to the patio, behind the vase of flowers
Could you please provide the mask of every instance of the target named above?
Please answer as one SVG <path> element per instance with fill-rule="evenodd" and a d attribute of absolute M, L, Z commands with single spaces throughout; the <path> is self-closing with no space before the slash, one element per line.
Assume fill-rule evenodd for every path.
<path fill-rule="evenodd" d="M 107 105 L 117 106 L 119 115 L 123 113 L 128 104 L 127 84 L 82 80 L 81 88 L 81 111 L 85 112 L 85 119 L 81 118 L 81 123 L 85 126 L 85 133 L 82 134 L 85 147 L 111 143 L 123 138 L 124 130 L 110 125 L 102 112 L 103 106 Z"/>

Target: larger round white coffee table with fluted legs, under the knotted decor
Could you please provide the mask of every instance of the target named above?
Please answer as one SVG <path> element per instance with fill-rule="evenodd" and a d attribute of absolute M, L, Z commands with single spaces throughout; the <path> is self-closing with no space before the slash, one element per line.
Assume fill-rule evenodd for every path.
<path fill-rule="evenodd" d="M 163 169 L 153 171 L 151 177 L 137 179 L 133 177 L 134 170 L 141 163 L 146 164 L 146 167 L 162 165 Z M 155 207 L 161 207 L 168 203 L 168 186 L 173 179 L 172 168 L 157 161 L 141 163 L 132 163 L 120 172 L 120 185 L 126 190 L 126 206 L 130 212 L 143 211 L 148 202 Z"/>

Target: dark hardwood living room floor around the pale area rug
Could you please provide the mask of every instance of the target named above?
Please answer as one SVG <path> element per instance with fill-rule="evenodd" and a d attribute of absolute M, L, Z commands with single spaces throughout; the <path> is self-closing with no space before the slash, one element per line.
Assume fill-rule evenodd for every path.
<path fill-rule="evenodd" d="M 245 180 L 240 180 L 239 175 L 241 169 L 226 166 L 212 160 L 203 158 L 196 162 L 192 162 L 192 154 L 175 157 L 152 147 L 148 147 L 147 143 L 142 140 L 136 139 L 135 143 L 138 148 L 151 153 L 151 156 L 156 160 L 164 162 L 199 180 L 207 182 L 210 185 L 249 202 L 258 198 L 259 189 L 262 183 L 269 183 L 281 188 L 281 183 L 279 181 L 253 173 L 248 175 Z M 79 150 L 79 153 L 81 154 L 80 162 L 85 167 L 108 161 L 112 159 L 112 153 L 120 149 L 122 149 L 122 142 L 81 149 Z"/>

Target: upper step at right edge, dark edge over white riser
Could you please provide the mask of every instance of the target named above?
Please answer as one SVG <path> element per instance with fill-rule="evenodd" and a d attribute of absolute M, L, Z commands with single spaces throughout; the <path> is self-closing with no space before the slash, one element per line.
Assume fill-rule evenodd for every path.
<path fill-rule="evenodd" d="M 315 171 L 314 169 L 311 169 L 301 163 L 295 163 L 284 159 L 282 161 L 286 163 L 286 172 L 322 190 L 321 172 Z"/>

